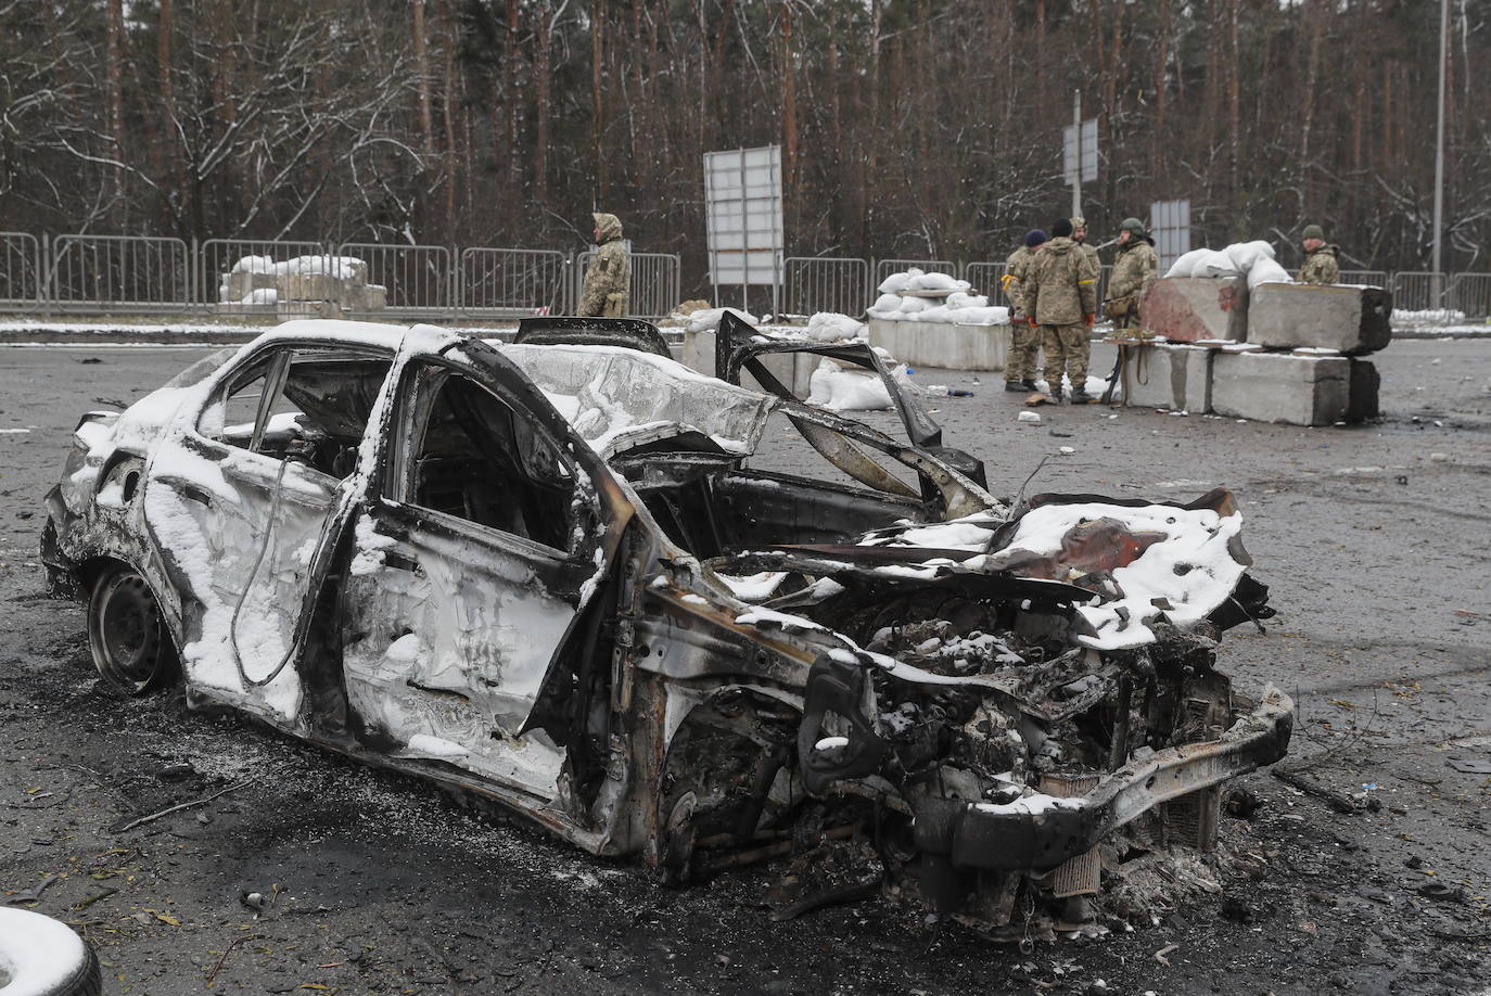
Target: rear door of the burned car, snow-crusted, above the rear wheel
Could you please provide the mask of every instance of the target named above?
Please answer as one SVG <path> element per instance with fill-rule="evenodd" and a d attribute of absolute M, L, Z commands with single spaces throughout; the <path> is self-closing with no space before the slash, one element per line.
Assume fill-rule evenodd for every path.
<path fill-rule="evenodd" d="M 368 349 L 268 346 L 221 379 L 152 464 L 149 522 L 195 604 L 188 678 L 280 725 L 301 705 L 289 659 L 309 567 L 391 364 Z"/>

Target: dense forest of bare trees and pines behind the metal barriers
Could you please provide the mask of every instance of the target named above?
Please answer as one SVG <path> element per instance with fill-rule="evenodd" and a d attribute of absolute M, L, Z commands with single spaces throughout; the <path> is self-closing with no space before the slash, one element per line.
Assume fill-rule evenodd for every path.
<path fill-rule="evenodd" d="M 789 255 L 1003 259 L 1190 198 L 1427 270 L 1437 0 L 0 0 L 0 228 L 580 249 L 705 274 L 707 151 L 780 143 Z M 1451 0 L 1445 270 L 1491 249 L 1491 0 Z M 1294 253 L 1290 258 L 1290 253 Z"/>

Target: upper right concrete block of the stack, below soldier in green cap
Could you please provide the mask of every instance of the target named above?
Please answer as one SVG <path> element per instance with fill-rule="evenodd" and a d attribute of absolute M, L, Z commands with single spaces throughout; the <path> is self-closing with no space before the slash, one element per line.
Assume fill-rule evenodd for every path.
<path fill-rule="evenodd" d="M 1382 288 L 1260 283 L 1248 303 L 1248 341 L 1372 353 L 1393 338 L 1391 315 L 1393 295 Z"/>

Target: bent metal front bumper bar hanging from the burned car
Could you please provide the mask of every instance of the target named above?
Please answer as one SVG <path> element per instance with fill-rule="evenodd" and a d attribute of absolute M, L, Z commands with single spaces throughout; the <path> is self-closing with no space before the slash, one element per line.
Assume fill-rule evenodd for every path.
<path fill-rule="evenodd" d="M 1293 699 L 1270 686 L 1258 707 L 1220 738 L 1132 759 L 1081 796 L 1033 796 L 1003 805 L 923 799 L 915 807 L 915 842 L 954 868 L 1047 871 L 1085 854 L 1161 802 L 1279 760 L 1293 726 Z"/>

